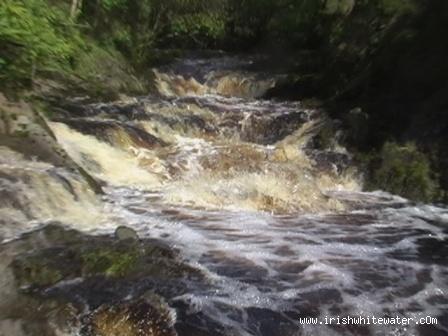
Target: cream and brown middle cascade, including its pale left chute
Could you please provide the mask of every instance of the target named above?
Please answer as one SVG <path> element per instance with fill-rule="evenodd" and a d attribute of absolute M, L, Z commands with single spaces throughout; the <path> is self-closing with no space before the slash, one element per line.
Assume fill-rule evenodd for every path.
<path fill-rule="evenodd" d="M 356 174 L 313 168 L 303 147 L 320 121 L 307 121 L 313 113 L 298 104 L 216 96 L 144 104 L 143 121 L 136 125 L 162 139 L 164 146 L 138 147 L 135 141 L 119 141 L 129 138 L 127 134 L 107 133 L 108 139 L 119 141 L 114 146 L 100 140 L 101 133 L 97 139 L 62 123 L 50 125 L 65 150 L 95 177 L 115 186 L 157 189 L 173 205 L 283 213 L 341 211 L 343 203 L 326 192 L 360 189 Z M 160 114 L 155 114 L 158 109 Z M 276 129 L 270 129 L 271 122 Z M 129 145 L 125 148 L 123 143 Z"/>

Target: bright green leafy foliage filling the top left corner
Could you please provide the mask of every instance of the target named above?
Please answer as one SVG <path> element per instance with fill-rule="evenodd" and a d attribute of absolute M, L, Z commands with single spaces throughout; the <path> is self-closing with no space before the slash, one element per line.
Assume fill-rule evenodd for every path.
<path fill-rule="evenodd" d="M 82 44 L 68 14 L 44 0 L 0 3 L 0 78 L 26 84 L 36 73 L 63 71 Z"/>

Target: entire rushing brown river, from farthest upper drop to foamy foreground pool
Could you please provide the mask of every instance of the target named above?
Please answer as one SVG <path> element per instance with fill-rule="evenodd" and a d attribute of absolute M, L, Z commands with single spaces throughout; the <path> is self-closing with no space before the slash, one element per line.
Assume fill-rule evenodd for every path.
<path fill-rule="evenodd" d="M 156 75 L 160 97 L 87 105 L 50 124 L 106 194 L 102 205 L 80 197 L 85 204 L 62 214 L 42 199 L 45 211 L 33 213 L 91 233 L 126 225 L 180 250 L 207 285 L 161 289 L 179 335 L 448 335 L 448 210 L 360 192 L 340 164 L 344 148 L 312 145 L 324 113 L 257 100 L 276 78 L 250 72 L 250 62 L 184 60 Z M 34 180 L 51 170 L 13 161 L 1 164 Z M 66 193 L 57 193 L 60 207 Z M 300 323 L 346 316 L 438 324 Z"/>

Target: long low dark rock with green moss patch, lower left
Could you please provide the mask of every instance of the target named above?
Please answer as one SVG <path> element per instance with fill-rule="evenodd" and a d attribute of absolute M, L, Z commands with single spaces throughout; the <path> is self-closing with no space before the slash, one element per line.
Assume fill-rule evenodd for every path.
<path fill-rule="evenodd" d="M 17 248 L 23 252 L 11 265 L 15 278 L 19 286 L 31 289 L 77 278 L 138 281 L 200 276 L 168 246 L 150 239 L 84 236 L 50 225 L 25 235 Z"/>

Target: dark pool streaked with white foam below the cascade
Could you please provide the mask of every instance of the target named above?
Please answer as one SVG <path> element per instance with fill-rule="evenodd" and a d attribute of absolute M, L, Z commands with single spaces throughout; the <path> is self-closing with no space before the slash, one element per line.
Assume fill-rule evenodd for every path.
<path fill-rule="evenodd" d="M 352 193 L 359 207 L 367 200 L 364 210 L 279 216 L 174 208 L 160 196 L 129 194 L 126 189 L 109 194 L 121 204 L 114 216 L 134 218 L 131 225 L 141 235 L 180 249 L 208 274 L 211 288 L 197 288 L 174 300 L 187 304 L 192 316 L 205 314 L 235 335 L 265 335 L 267 330 L 276 330 L 273 335 L 278 336 L 295 335 L 293 331 L 346 335 L 349 330 L 301 326 L 299 316 L 444 319 L 446 209 L 406 204 L 397 208 L 398 199 L 392 196 L 393 208 L 372 209 L 370 202 L 385 202 L 385 194 Z M 262 316 L 270 316 L 270 326 L 252 329 L 253 319 Z M 288 333 L 281 331 L 282 325 L 290 326 Z M 422 330 L 416 325 L 365 328 L 358 326 L 354 334 L 421 335 Z M 437 328 L 446 331 L 443 324 Z"/>

